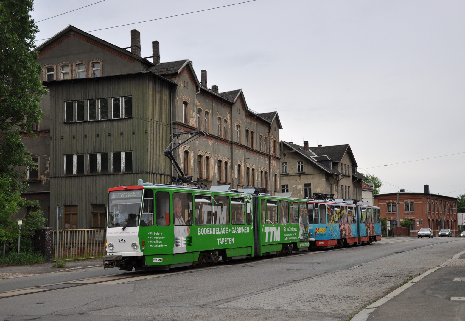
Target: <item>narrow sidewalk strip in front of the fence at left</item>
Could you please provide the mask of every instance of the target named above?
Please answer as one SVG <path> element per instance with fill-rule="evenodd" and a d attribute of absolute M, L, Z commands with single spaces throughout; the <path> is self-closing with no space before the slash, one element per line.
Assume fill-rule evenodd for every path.
<path fill-rule="evenodd" d="M 80 260 L 80 261 L 69 261 L 66 262 L 64 268 L 57 269 L 53 268 L 52 265 L 55 262 L 42 263 L 42 264 L 31 264 L 31 265 L 20 265 L 20 266 L 5 266 L 0 268 L 0 279 L 10 278 L 15 276 L 28 276 L 35 274 L 44 274 L 56 271 L 65 271 L 74 268 L 85 268 L 88 266 L 95 266 L 103 264 L 102 259 L 91 259 L 91 260 Z"/>

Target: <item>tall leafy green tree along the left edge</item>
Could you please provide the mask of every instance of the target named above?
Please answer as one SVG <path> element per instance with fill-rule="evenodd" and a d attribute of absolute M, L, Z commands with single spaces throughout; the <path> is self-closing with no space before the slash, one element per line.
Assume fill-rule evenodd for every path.
<path fill-rule="evenodd" d="M 0 242 L 17 236 L 12 216 L 27 205 L 21 192 L 29 186 L 21 179 L 34 163 L 20 130 L 34 135 L 33 124 L 42 119 L 39 103 L 47 92 L 40 81 L 37 52 L 32 51 L 38 29 L 31 10 L 32 0 L 0 1 Z"/>

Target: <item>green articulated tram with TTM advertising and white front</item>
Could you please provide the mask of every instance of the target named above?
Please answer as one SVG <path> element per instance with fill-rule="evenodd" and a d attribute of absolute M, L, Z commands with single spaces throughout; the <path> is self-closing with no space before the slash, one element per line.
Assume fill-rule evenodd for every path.
<path fill-rule="evenodd" d="M 228 186 L 108 189 L 104 267 L 166 270 L 308 250 L 306 199 L 217 187 Z"/>

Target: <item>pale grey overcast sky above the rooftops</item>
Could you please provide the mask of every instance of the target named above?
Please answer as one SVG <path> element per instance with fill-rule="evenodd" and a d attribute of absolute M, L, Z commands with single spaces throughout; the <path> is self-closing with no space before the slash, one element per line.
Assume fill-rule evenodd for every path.
<path fill-rule="evenodd" d="M 36 0 L 32 16 L 97 1 Z M 106 0 L 39 22 L 36 39 L 237 2 Z M 281 140 L 350 144 L 359 171 L 385 182 L 381 193 L 429 184 L 457 196 L 465 154 L 378 166 L 465 152 L 464 16 L 464 1 L 257 0 L 91 34 L 127 47 L 138 29 L 142 57 L 159 40 L 161 62 L 189 58 L 209 87 L 242 88 L 250 109 L 278 111 Z"/>

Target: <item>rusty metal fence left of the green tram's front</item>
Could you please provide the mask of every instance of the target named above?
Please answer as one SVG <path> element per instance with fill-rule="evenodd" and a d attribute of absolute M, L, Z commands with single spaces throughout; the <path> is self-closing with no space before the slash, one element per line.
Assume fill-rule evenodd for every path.
<path fill-rule="evenodd" d="M 56 230 L 53 230 L 53 259 L 56 260 Z M 101 257 L 106 254 L 106 229 L 60 230 L 58 258 L 60 260 Z"/>

